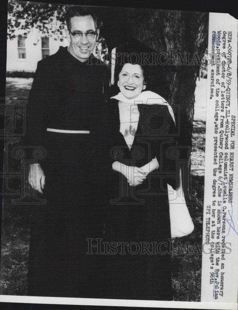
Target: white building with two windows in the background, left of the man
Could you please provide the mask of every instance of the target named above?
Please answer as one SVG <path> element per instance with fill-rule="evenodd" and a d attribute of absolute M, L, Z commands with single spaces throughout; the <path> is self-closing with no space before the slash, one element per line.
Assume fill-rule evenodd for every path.
<path fill-rule="evenodd" d="M 16 30 L 16 38 L 7 39 L 7 71 L 35 72 L 37 62 L 56 53 L 60 46 L 69 46 L 66 38 L 42 34 L 38 29 L 32 29 L 27 38 L 21 35 L 22 30 Z"/>

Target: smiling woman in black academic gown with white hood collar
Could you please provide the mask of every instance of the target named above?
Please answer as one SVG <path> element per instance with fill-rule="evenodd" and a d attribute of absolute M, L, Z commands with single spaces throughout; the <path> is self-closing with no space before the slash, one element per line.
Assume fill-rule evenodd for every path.
<path fill-rule="evenodd" d="M 145 91 L 143 66 L 125 63 L 115 76 L 120 92 L 108 104 L 104 146 L 110 162 L 104 298 L 172 300 L 167 193 L 167 184 L 176 188 L 172 109 Z"/>

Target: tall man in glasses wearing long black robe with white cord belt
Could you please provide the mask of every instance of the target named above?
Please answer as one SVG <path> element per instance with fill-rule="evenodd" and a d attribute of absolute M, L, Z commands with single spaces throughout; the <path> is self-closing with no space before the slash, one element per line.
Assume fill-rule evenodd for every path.
<path fill-rule="evenodd" d="M 40 60 L 29 95 L 26 145 L 46 156 L 30 165 L 29 183 L 46 204 L 32 207 L 28 295 L 100 297 L 100 258 L 86 238 L 103 233 L 100 217 L 108 66 L 92 55 L 97 19 L 66 13 L 69 47 Z"/>

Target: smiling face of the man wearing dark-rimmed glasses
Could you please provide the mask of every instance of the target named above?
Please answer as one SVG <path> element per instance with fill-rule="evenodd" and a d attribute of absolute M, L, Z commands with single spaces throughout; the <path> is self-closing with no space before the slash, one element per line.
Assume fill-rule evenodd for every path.
<path fill-rule="evenodd" d="M 95 29 L 94 20 L 91 15 L 74 16 L 70 20 L 71 29 L 66 31 L 66 37 L 70 42 L 68 51 L 81 62 L 87 61 L 91 55 L 99 34 L 99 29 Z M 85 33 L 97 32 L 94 39 L 88 39 Z M 83 33 L 82 38 L 75 39 L 72 35 L 75 33 Z"/>

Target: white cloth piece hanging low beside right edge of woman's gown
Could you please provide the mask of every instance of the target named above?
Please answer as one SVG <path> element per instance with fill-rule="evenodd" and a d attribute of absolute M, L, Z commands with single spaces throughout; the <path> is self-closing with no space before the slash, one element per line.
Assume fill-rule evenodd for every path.
<path fill-rule="evenodd" d="M 184 192 L 182 188 L 181 170 L 179 187 L 174 190 L 169 184 L 169 215 L 171 226 L 171 237 L 183 237 L 189 235 L 194 230 L 194 224 L 186 206 Z"/>

